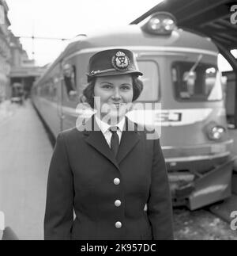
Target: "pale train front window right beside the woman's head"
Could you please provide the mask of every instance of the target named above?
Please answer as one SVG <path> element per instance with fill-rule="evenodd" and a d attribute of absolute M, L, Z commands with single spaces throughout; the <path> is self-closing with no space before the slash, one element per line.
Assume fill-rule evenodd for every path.
<path fill-rule="evenodd" d="M 143 73 L 139 78 L 143 82 L 144 88 L 137 101 L 158 101 L 160 91 L 158 65 L 152 60 L 140 60 L 138 67 Z"/>

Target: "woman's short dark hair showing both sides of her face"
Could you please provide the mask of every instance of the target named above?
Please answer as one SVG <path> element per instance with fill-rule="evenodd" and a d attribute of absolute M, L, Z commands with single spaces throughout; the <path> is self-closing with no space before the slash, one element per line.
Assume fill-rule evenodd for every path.
<path fill-rule="evenodd" d="M 141 91 L 143 90 L 143 82 L 138 78 L 137 75 L 132 75 L 133 81 L 133 89 L 134 89 L 134 97 L 133 101 L 136 101 L 140 96 Z M 83 90 L 83 95 L 85 96 L 85 100 L 94 109 L 94 88 L 96 84 L 96 78 L 93 78 L 88 85 Z"/>

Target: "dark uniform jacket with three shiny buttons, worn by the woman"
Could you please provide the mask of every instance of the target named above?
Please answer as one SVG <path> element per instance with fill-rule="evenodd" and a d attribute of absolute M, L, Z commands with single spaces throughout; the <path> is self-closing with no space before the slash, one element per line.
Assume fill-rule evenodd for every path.
<path fill-rule="evenodd" d="M 147 139 L 126 119 L 126 128 L 134 127 L 122 132 L 116 159 L 100 131 L 72 128 L 58 135 L 47 181 L 45 239 L 173 239 L 160 139 Z"/>

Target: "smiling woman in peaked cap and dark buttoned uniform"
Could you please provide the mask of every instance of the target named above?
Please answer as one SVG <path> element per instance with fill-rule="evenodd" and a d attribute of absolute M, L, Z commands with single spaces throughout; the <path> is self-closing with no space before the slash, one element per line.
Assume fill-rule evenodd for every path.
<path fill-rule="evenodd" d="M 83 128 L 57 138 L 45 239 L 173 239 L 160 141 L 147 139 L 125 117 L 127 105 L 143 88 L 138 75 L 129 50 L 106 50 L 90 59 L 84 95 L 97 112 Z"/>

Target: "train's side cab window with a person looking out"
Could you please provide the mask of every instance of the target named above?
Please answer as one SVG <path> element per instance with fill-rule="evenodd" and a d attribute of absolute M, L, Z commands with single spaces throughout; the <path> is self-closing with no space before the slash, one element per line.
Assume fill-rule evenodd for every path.
<path fill-rule="evenodd" d="M 66 63 L 63 65 L 62 70 L 66 93 L 72 100 L 73 97 L 77 96 L 76 67 Z"/>

